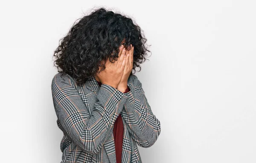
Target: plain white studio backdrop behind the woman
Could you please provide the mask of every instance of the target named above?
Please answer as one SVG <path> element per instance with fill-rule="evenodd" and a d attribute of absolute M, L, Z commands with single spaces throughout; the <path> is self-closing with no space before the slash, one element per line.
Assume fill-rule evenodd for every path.
<path fill-rule="evenodd" d="M 132 17 L 151 45 L 135 75 L 161 133 L 138 147 L 143 163 L 256 163 L 254 0 L 1 2 L 0 162 L 61 161 L 52 55 L 99 6 Z"/>

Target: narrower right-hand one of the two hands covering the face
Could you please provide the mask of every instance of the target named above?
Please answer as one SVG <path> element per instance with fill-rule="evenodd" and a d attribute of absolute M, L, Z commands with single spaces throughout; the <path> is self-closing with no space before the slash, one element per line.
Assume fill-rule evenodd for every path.
<path fill-rule="evenodd" d="M 125 69 L 124 73 L 122 75 L 122 78 L 117 86 L 118 90 L 122 90 L 124 92 L 127 88 L 127 82 L 128 78 L 130 76 L 131 70 L 133 68 L 133 53 L 134 53 L 134 46 L 131 45 L 131 50 L 126 50 L 126 63 L 125 63 Z"/>

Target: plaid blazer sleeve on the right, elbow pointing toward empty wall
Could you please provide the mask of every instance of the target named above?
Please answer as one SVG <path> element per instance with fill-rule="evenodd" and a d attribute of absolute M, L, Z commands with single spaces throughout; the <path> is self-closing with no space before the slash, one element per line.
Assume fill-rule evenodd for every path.
<path fill-rule="evenodd" d="M 130 78 L 128 82 L 130 91 L 125 94 L 128 97 L 124 107 L 126 114 L 123 117 L 132 138 L 139 146 L 148 148 L 160 135 L 160 121 L 153 114 L 137 76 L 132 75 Z"/>

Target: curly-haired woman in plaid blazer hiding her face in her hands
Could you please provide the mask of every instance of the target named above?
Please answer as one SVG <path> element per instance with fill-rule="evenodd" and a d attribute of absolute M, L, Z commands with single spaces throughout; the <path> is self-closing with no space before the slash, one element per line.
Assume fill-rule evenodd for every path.
<path fill-rule="evenodd" d="M 131 18 L 99 8 L 73 25 L 55 50 L 52 79 L 61 163 L 142 163 L 137 145 L 160 135 L 142 84 L 145 37 Z M 150 52 L 150 51 L 149 51 Z"/>

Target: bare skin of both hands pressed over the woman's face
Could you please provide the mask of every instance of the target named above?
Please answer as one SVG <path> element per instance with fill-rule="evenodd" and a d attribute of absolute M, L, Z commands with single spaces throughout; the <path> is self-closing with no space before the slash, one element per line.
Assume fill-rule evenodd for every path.
<path fill-rule="evenodd" d="M 123 45 L 119 47 L 119 57 L 114 63 L 106 62 L 106 69 L 100 73 L 96 73 L 95 79 L 102 84 L 108 84 L 121 92 L 125 92 L 129 75 L 133 68 L 134 47 L 126 50 Z"/>

